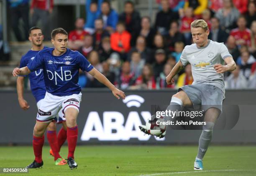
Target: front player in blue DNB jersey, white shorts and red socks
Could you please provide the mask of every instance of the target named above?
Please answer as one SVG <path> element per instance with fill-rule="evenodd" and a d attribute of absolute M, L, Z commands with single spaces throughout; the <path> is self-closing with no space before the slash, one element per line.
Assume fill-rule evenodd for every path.
<path fill-rule="evenodd" d="M 69 150 L 67 163 L 70 169 L 74 169 L 77 168 L 77 163 L 74 161 L 78 135 L 77 116 L 82 98 L 81 87 L 78 84 L 79 69 L 88 72 L 99 82 L 105 84 L 116 98 L 125 99 L 125 94 L 97 71 L 83 55 L 67 48 L 68 34 L 64 29 L 53 30 L 51 38 L 54 48 L 39 51 L 26 67 L 13 69 L 13 76 L 27 75 L 35 70 L 43 69 L 46 85 L 46 95 L 42 106 L 38 109 L 33 131 L 35 160 L 27 168 L 38 168 L 44 164 L 42 161 L 44 132 L 51 120 L 58 114 L 59 109 L 62 108 L 67 123 Z"/>

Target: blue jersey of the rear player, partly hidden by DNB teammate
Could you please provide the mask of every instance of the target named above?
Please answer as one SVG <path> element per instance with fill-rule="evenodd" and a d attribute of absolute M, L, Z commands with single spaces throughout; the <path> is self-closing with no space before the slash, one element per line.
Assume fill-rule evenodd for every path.
<path fill-rule="evenodd" d="M 44 49 L 46 48 L 47 47 L 44 47 Z M 39 51 L 29 50 L 26 55 L 23 55 L 20 60 L 20 68 L 26 67 L 27 64 L 32 62 L 38 52 Z M 44 98 L 46 92 L 43 69 L 37 69 L 36 71 L 31 72 L 28 77 L 32 94 L 35 97 L 36 102 L 38 102 Z"/>

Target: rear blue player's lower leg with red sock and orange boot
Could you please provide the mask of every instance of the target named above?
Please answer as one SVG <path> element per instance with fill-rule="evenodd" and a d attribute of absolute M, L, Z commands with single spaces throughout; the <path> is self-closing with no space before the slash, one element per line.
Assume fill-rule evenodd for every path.
<path fill-rule="evenodd" d="M 51 146 L 50 154 L 54 156 L 55 165 L 64 165 L 67 162 L 59 154 L 59 145 L 56 135 L 56 122 L 51 121 L 47 127 L 47 139 Z"/>

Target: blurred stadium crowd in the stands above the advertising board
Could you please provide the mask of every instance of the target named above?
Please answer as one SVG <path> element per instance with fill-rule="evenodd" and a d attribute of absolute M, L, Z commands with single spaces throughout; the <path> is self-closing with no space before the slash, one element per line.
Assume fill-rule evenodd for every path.
<path fill-rule="evenodd" d="M 42 0 L 32 1 L 31 13 L 38 15 L 38 19 L 45 16 L 43 13 L 52 12 L 53 0 L 49 1 L 48 9 L 36 7 Z M 235 71 L 224 75 L 226 88 L 256 88 L 254 0 L 156 2 L 159 11 L 152 22 L 147 16 L 141 17 L 132 1 L 125 1 L 124 11 L 118 14 L 109 1 L 87 0 L 86 20 L 76 20 L 75 29 L 69 32 L 68 47 L 84 55 L 120 89 L 177 89 L 192 84 L 191 65 L 175 77 L 175 84 L 167 85 L 165 77 L 179 61 L 184 46 L 193 42 L 190 23 L 203 19 L 210 30 L 209 39 L 224 42 L 237 64 Z M 38 19 L 32 17 L 33 22 Z M 15 32 L 15 27 L 13 30 Z M 20 36 L 16 37 L 21 40 Z M 103 86 L 84 72 L 80 73 L 79 84 L 81 87 Z"/>

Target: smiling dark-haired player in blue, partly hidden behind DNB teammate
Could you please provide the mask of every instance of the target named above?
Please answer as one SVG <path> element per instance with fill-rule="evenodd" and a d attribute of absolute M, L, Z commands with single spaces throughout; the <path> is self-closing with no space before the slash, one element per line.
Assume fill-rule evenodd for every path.
<path fill-rule="evenodd" d="M 20 68 L 26 67 L 28 63 L 32 62 L 32 60 L 35 58 L 36 54 L 40 50 L 47 48 L 47 47 L 44 47 L 43 45 L 44 35 L 42 30 L 39 27 L 31 27 L 28 33 L 29 33 L 28 39 L 32 43 L 32 48 L 25 55 L 21 57 Z M 40 109 L 46 93 L 43 69 L 38 69 L 34 72 L 31 72 L 30 74 L 28 74 L 28 77 L 30 81 L 31 92 L 36 99 L 37 108 Z M 24 79 L 25 79 L 25 76 L 19 76 L 17 78 L 17 93 L 18 93 L 18 101 L 19 101 L 20 107 L 24 110 L 27 110 L 29 108 L 29 105 L 28 105 L 28 102 L 26 102 L 26 100 L 23 98 Z M 64 159 L 59 155 L 59 151 L 62 144 L 67 139 L 67 132 L 66 132 L 67 124 L 66 124 L 66 119 L 64 118 L 64 114 L 61 111 L 59 111 L 58 115 L 59 115 L 59 119 L 57 121 L 57 118 L 56 118 L 55 121 L 57 121 L 57 123 L 62 123 L 63 125 L 63 127 L 59 131 L 58 138 L 56 136 L 56 123 L 55 121 L 52 121 L 47 127 L 47 139 L 51 146 L 50 154 L 54 156 L 55 164 L 64 165 L 64 164 L 67 164 L 67 162 L 64 161 Z"/>

